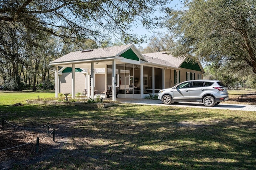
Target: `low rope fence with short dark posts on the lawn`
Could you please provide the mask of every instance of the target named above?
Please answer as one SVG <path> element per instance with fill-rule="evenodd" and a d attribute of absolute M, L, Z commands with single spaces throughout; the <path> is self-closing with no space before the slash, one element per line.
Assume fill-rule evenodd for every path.
<path fill-rule="evenodd" d="M 43 126 L 40 126 L 40 127 L 32 127 L 32 128 L 25 128 L 25 127 L 19 127 L 19 126 L 16 126 L 6 120 L 4 120 L 4 118 L 2 118 L 2 127 L 4 127 L 4 124 L 5 122 L 9 125 L 12 125 L 13 127 L 16 127 L 16 128 L 21 128 L 21 129 L 37 129 L 37 128 L 43 128 L 43 127 L 47 127 L 47 134 L 50 135 L 50 134 L 53 134 L 53 141 L 55 142 L 55 128 L 51 128 L 49 123 L 47 123 L 47 125 L 43 125 Z M 49 133 L 49 129 L 52 130 L 52 132 Z M 24 146 L 24 145 L 27 145 L 27 144 L 32 144 L 33 142 L 29 142 L 29 143 L 25 143 L 25 144 L 21 144 L 21 145 L 18 145 L 18 146 L 14 146 L 14 147 L 11 147 L 11 148 L 5 148 L 5 149 L 1 149 L 0 151 L 4 151 L 4 150 L 9 150 L 9 149 L 13 149 L 13 148 L 18 148 L 20 146 Z M 38 153 L 38 149 L 39 148 L 39 137 L 36 138 L 36 153 Z"/>

